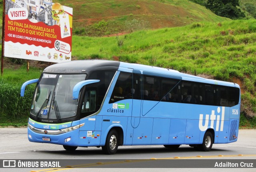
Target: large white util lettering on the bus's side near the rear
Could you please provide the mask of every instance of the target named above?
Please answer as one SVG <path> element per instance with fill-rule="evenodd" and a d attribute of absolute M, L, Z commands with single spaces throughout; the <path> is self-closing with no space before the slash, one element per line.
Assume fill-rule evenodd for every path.
<path fill-rule="evenodd" d="M 220 114 L 220 107 L 217 108 L 217 112 L 218 112 L 218 114 Z M 209 120 L 209 116 L 210 116 L 210 120 Z M 212 114 L 211 115 L 206 114 L 205 123 L 203 125 L 204 115 L 200 114 L 200 117 L 199 117 L 199 129 L 201 131 L 207 130 L 209 121 L 211 121 L 210 128 L 214 128 L 214 121 L 216 121 L 216 128 L 215 128 L 215 130 L 219 131 L 219 129 L 220 129 L 220 131 L 223 131 L 224 116 L 225 116 L 225 107 L 222 107 L 221 120 L 220 120 L 220 115 L 215 115 L 215 110 L 212 110 Z M 217 117 L 217 119 L 216 119 L 216 117 Z"/>

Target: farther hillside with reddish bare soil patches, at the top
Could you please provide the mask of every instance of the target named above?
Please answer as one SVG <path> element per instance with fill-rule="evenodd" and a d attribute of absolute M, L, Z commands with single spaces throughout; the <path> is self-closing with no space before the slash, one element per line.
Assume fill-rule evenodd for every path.
<path fill-rule="evenodd" d="M 130 27 L 136 19 L 137 25 L 146 21 L 144 28 L 185 26 L 192 22 L 228 21 L 210 10 L 188 0 L 56 0 L 73 8 L 74 34 L 104 36 L 131 32 L 139 26 Z"/>

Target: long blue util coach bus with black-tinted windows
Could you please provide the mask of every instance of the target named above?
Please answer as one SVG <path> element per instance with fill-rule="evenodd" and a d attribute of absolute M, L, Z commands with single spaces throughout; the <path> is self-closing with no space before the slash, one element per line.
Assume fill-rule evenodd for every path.
<path fill-rule="evenodd" d="M 30 142 L 66 150 L 181 144 L 210 151 L 236 142 L 238 84 L 176 70 L 108 60 L 77 60 L 48 66 L 37 83 L 28 120 Z"/>

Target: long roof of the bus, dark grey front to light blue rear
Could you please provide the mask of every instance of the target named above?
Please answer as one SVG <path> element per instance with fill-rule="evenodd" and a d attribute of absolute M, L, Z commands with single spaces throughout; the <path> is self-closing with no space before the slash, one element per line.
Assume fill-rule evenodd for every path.
<path fill-rule="evenodd" d="M 182 79 L 184 80 L 189 80 L 194 82 L 204 82 L 208 84 L 219 84 L 224 86 L 233 86 L 233 87 L 240 88 L 238 84 L 206 79 L 206 78 L 202 78 L 202 77 L 198 77 L 190 74 L 184 74 L 184 73 L 178 72 L 177 70 L 147 66 L 143 64 L 131 64 L 126 62 L 110 61 L 110 60 L 74 60 L 70 62 L 62 62 L 62 63 L 48 66 L 47 68 L 44 69 L 44 73 L 59 73 L 59 74 L 76 73 L 78 74 L 78 73 L 85 73 L 88 70 L 97 70 L 100 68 L 102 69 L 104 67 L 106 70 L 119 69 L 120 71 L 122 71 L 122 68 L 130 69 L 131 71 L 133 69 L 141 70 L 142 74 L 143 74 L 143 71 L 148 71 L 148 72 L 157 73 L 159 74 L 159 76 L 161 76 L 161 74 L 169 74 L 174 76 L 181 76 Z"/>

